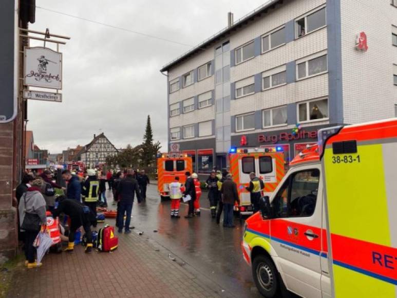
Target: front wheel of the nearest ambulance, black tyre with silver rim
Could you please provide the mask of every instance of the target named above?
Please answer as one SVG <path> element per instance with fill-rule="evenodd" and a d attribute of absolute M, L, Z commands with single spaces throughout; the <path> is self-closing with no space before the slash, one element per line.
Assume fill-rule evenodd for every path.
<path fill-rule="evenodd" d="M 267 298 L 279 297 L 278 272 L 272 260 L 265 255 L 258 255 L 252 263 L 252 275 L 259 292 Z"/>

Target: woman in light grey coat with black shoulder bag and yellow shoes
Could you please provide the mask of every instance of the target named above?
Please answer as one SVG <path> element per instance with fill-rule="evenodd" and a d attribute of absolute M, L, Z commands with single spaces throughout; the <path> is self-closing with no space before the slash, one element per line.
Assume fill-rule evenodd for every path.
<path fill-rule="evenodd" d="M 42 185 L 42 179 L 33 180 L 31 187 L 22 195 L 18 206 L 21 230 L 25 231 L 25 264 L 28 269 L 42 265 L 34 262 L 36 248 L 33 246 L 41 225 L 47 224 L 46 201 L 41 193 Z"/>

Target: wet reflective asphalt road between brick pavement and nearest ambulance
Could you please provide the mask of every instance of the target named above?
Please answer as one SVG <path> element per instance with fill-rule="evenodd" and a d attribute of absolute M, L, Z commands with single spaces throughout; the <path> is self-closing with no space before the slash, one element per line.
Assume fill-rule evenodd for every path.
<path fill-rule="evenodd" d="M 111 192 L 107 192 L 107 197 L 109 208 L 115 209 L 111 206 Z M 157 184 L 148 185 L 146 202 L 134 203 L 130 226 L 135 227 L 135 232 L 143 231 L 144 236 L 217 283 L 227 296 L 261 297 L 252 279 L 251 267 L 242 257 L 243 222 L 235 218 L 236 228 L 223 228 L 222 221 L 217 225 L 211 218 L 205 192 L 200 204 L 200 217 L 183 218 L 187 214 L 187 205 L 181 203 L 181 218 L 171 218 L 171 202 L 160 201 Z"/>

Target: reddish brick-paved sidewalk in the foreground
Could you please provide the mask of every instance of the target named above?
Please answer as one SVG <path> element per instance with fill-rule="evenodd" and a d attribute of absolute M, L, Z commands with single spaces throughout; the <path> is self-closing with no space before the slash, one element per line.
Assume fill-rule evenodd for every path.
<path fill-rule="evenodd" d="M 133 230 L 118 236 L 119 248 L 112 253 L 85 254 L 79 245 L 71 254 L 47 254 L 41 268 L 15 272 L 8 297 L 228 296 L 210 278 L 169 258 L 170 252 L 147 235 Z"/>

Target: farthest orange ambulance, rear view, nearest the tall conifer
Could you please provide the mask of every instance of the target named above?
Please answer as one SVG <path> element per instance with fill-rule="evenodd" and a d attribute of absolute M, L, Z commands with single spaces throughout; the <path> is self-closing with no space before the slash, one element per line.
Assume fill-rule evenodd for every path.
<path fill-rule="evenodd" d="M 185 172 L 193 173 L 192 157 L 180 153 L 164 153 L 157 158 L 157 189 L 161 200 L 169 198 L 169 183 L 174 182 L 176 176 L 180 183 L 185 183 Z"/>

